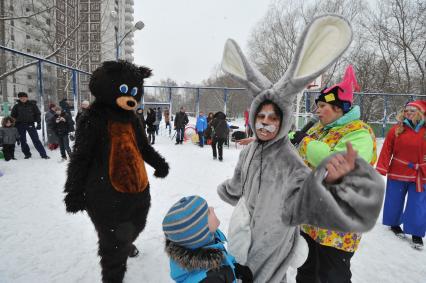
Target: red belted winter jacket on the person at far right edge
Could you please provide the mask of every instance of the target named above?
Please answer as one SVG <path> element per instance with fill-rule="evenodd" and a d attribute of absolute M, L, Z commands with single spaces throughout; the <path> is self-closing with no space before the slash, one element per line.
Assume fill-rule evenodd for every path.
<path fill-rule="evenodd" d="M 426 127 L 416 133 L 404 125 L 404 131 L 395 136 L 398 126 L 390 129 L 383 144 L 376 170 L 389 179 L 416 182 L 416 191 L 423 192 L 426 184 Z"/>

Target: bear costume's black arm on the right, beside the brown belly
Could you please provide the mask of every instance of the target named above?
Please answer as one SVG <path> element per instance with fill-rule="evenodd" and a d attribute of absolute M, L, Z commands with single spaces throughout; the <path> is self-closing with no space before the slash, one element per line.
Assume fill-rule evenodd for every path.
<path fill-rule="evenodd" d="M 169 174 L 169 164 L 148 142 L 145 131 L 136 118 L 133 122 L 135 132 L 137 133 L 138 147 L 143 159 L 155 169 L 154 176 L 164 178 Z"/>

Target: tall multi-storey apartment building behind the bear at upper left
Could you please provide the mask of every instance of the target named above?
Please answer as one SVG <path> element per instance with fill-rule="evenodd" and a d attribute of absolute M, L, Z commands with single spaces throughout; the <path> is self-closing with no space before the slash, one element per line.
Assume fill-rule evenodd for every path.
<path fill-rule="evenodd" d="M 133 0 L 1 0 L 0 15 L 16 17 L 46 10 L 36 16 L 0 21 L 0 44 L 37 56 L 55 53 L 58 63 L 94 71 L 102 61 L 117 57 L 133 61 Z M 0 52 L 0 75 L 28 59 Z M 90 97 L 89 76 L 79 75 L 80 100 Z M 38 100 L 37 68 L 31 66 L 0 80 L 0 102 L 13 102 L 19 91 Z M 44 101 L 72 99 L 71 72 L 43 64 Z"/>

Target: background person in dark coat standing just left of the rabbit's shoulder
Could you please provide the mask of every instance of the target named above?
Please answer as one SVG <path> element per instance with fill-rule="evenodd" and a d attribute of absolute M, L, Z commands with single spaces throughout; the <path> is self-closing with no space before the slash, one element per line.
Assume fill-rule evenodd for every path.
<path fill-rule="evenodd" d="M 214 118 L 211 121 L 206 134 L 212 138 L 212 150 L 213 150 L 213 159 L 217 158 L 219 153 L 219 161 L 223 160 L 223 144 L 228 138 L 229 128 L 228 123 L 226 122 L 225 113 L 219 111 L 214 114 Z M 217 146 L 217 150 L 216 150 Z"/>

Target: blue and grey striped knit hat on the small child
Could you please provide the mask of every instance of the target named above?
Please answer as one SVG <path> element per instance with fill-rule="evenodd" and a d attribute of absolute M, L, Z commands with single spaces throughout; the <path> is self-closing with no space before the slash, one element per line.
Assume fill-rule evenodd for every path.
<path fill-rule="evenodd" d="M 211 243 L 214 234 L 208 225 L 208 206 L 199 196 L 184 197 L 175 203 L 163 220 L 166 238 L 177 245 L 197 249 Z"/>

